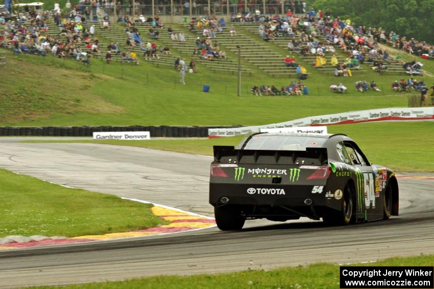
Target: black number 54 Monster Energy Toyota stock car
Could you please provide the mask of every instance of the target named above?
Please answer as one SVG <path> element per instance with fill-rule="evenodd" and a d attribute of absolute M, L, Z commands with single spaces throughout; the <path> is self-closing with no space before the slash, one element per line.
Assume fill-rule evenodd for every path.
<path fill-rule="evenodd" d="M 343 134 L 258 133 L 214 146 L 209 202 L 221 230 L 246 219 L 349 224 L 398 215 L 398 182 Z"/>

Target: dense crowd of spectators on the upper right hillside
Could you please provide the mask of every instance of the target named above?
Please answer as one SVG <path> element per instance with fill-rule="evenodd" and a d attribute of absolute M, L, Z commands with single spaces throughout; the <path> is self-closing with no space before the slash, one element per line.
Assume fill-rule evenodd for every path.
<path fill-rule="evenodd" d="M 265 40 L 275 40 L 279 37 L 289 38 L 288 50 L 299 51 L 303 57 L 316 57 L 314 65 L 325 66 L 326 54 L 334 54 L 335 47 L 342 48 L 347 53 L 345 61 L 337 62 L 332 57 L 330 65 L 335 66 L 334 75 L 349 75 L 347 69 L 359 69 L 360 64 L 372 65 L 372 69 L 379 74 L 387 70 L 391 65 L 391 57 L 388 51 L 381 49 L 378 43 L 391 43 L 397 48 L 409 53 L 420 55 L 424 58 L 432 57 L 432 46 L 426 42 L 418 42 L 414 39 L 407 41 L 405 37 L 399 38 L 391 32 L 389 38 L 381 29 L 357 27 L 351 19 L 332 18 L 330 11 L 316 11 L 310 9 L 303 17 L 294 15 L 288 11 L 285 15 L 263 16 L 257 13 L 248 13 L 244 18 L 238 17 L 236 21 L 257 21 L 259 36 Z M 325 42 L 315 40 L 316 36 L 325 38 Z M 397 44 L 399 41 L 399 45 Z M 394 44 L 395 43 L 395 44 Z M 333 59 L 334 58 L 334 59 Z M 404 64 L 400 57 L 395 58 L 397 63 L 403 65 L 408 74 L 422 73 L 420 63 L 413 61 L 410 65 Z"/>

